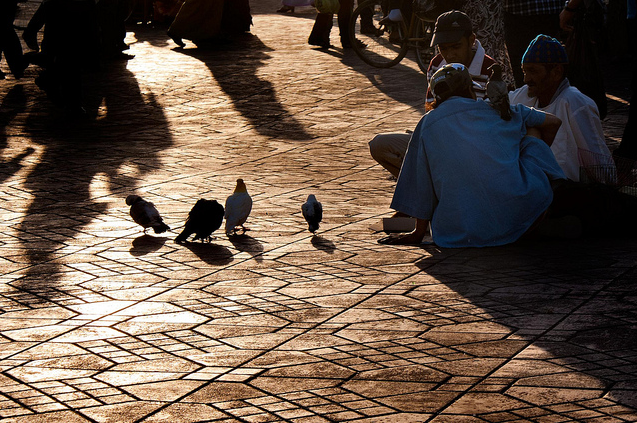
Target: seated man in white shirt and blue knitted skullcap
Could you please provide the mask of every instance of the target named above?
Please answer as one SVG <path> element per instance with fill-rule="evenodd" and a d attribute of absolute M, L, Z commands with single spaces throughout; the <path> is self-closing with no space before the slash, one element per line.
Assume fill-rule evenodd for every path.
<path fill-rule="evenodd" d="M 551 150 L 558 164 L 573 180 L 579 181 L 582 163 L 578 150 L 586 150 L 587 161 L 597 157 L 610 157 L 602 123 L 595 102 L 572 87 L 566 78 L 568 58 L 566 50 L 555 38 L 538 35 L 522 57 L 522 71 L 526 85 L 509 93 L 511 104 L 552 113 L 563 122 L 555 136 Z M 592 153 L 592 154 L 591 154 Z"/>

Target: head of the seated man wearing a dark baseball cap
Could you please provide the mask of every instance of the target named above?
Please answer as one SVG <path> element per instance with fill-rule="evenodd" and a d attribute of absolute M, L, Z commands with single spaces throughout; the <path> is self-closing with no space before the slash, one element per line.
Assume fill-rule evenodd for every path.
<path fill-rule="evenodd" d="M 473 60 L 472 47 L 475 41 L 471 19 L 466 13 L 451 10 L 438 16 L 431 46 L 438 46 L 447 63 L 469 66 Z"/>

